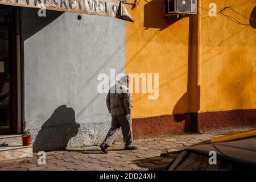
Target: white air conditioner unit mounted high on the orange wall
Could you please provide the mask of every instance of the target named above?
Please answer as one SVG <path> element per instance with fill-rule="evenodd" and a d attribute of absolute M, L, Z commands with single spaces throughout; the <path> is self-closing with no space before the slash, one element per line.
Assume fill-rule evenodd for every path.
<path fill-rule="evenodd" d="M 197 0 L 165 0 L 166 15 L 196 14 Z"/>

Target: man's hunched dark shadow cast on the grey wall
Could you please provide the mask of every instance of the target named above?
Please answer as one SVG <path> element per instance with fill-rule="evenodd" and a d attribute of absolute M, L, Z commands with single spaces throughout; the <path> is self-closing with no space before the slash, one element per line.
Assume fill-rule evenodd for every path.
<path fill-rule="evenodd" d="M 80 125 L 76 123 L 75 111 L 71 107 L 61 105 L 36 135 L 33 150 L 38 152 L 65 149 L 69 140 L 77 135 L 79 127 Z"/>

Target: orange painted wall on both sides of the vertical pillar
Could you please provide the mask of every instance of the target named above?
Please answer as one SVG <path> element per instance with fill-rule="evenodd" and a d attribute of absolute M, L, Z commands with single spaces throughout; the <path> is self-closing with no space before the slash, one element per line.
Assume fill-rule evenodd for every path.
<path fill-rule="evenodd" d="M 201 6 L 209 9 L 210 2 L 216 3 L 220 11 L 245 0 L 201 1 Z M 236 10 L 250 16 L 255 5 Z M 145 1 L 133 10 L 126 7 L 134 19 L 134 23 L 126 24 L 126 73 L 159 73 L 158 100 L 148 100 L 147 94 L 133 94 L 133 117 L 194 111 L 189 110 L 188 92 L 189 18 L 164 18 L 162 4 Z M 207 15 L 208 11 L 201 10 L 202 18 Z M 230 15 L 249 22 L 236 13 Z M 199 111 L 255 108 L 256 30 L 218 14 L 201 19 L 200 35 Z"/>

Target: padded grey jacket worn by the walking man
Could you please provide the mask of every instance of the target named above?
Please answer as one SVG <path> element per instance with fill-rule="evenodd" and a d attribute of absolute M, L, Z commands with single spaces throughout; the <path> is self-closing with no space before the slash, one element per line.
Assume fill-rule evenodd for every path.
<path fill-rule="evenodd" d="M 131 92 L 125 82 L 119 81 L 109 89 L 106 105 L 112 115 L 131 113 Z"/>

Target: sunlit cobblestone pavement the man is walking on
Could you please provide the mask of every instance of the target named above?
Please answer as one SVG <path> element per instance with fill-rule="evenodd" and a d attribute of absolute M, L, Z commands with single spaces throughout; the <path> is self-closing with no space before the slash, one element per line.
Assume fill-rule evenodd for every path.
<path fill-rule="evenodd" d="M 102 154 L 99 146 L 72 148 L 65 151 L 46 152 L 46 164 L 39 165 L 37 154 L 32 158 L 12 160 L 0 163 L 3 170 L 148 170 L 164 168 L 174 156 L 169 158 L 160 156 L 164 152 L 180 150 L 191 144 L 202 142 L 211 138 L 221 137 L 225 134 L 238 131 L 251 130 L 222 129 L 203 134 L 167 135 L 159 138 L 135 140 L 134 145 L 138 150 L 125 151 L 123 143 L 115 143 L 109 149 L 109 154 Z"/>

